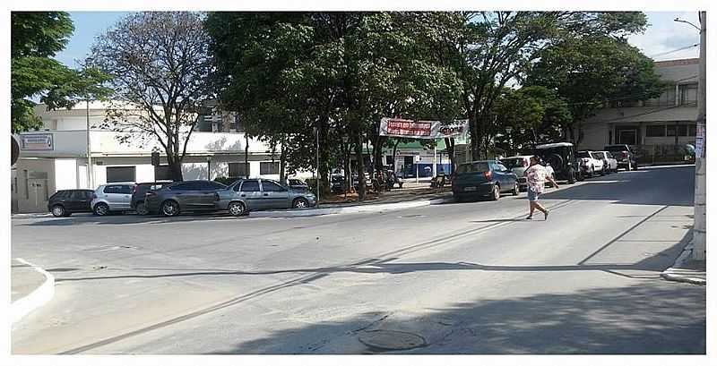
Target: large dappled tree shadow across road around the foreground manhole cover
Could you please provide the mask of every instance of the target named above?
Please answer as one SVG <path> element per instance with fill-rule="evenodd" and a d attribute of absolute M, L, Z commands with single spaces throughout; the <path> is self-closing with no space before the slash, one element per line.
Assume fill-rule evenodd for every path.
<path fill-rule="evenodd" d="M 348 319 L 299 323 L 206 354 L 380 353 L 358 341 L 363 332 L 376 329 L 419 334 L 428 343 L 384 353 L 704 354 L 704 288 L 677 287 L 646 281 L 569 294 L 457 302 L 419 309 L 420 316 L 367 311 Z M 231 327 L 240 320 L 227 321 L 225 326 Z"/>

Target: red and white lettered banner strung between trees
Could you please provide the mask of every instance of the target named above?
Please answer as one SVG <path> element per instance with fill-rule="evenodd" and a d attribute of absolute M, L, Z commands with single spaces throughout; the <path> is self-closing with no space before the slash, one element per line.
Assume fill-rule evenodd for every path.
<path fill-rule="evenodd" d="M 381 118 L 380 136 L 404 137 L 408 139 L 443 139 L 446 137 L 465 138 L 468 120 L 452 123 L 440 121 L 413 121 L 401 118 Z"/>

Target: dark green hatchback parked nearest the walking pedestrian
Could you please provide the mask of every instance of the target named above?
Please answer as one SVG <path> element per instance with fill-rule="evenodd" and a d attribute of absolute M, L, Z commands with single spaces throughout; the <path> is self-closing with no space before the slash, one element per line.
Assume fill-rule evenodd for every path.
<path fill-rule="evenodd" d="M 499 200 L 500 193 L 518 195 L 518 177 L 497 160 L 464 163 L 456 167 L 452 191 L 457 202 L 471 196 L 489 196 Z"/>

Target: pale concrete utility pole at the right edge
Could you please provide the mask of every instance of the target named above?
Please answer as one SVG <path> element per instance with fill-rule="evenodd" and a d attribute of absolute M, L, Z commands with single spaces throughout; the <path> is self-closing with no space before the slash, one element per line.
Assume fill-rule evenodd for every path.
<path fill-rule="evenodd" d="M 700 65 L 697 84 L 697 133 L 702 139 L 702 151 L 695 154 L 695 226 L 692 228 L 693 260 L 705 260 L 706 252 L 706 167 L 707 167 L 707 12 L 699 12 L 700 19 Z"/>

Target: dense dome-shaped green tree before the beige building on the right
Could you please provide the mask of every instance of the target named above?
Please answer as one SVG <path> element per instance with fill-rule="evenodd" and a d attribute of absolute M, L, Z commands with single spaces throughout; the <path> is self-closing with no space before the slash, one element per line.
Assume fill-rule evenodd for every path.
<path fill-rule="evenodd" d="M 625 39 L 606 36 L 570 38 L 544 50 L 526 83 L 556 90 L 566 100 L 573 119 L 561 127 L 575 144 L 582 140 L 583 120 L 598 108 L 656 98 L 663 88 L 650 58 Z"/>

